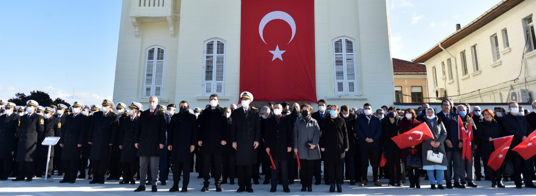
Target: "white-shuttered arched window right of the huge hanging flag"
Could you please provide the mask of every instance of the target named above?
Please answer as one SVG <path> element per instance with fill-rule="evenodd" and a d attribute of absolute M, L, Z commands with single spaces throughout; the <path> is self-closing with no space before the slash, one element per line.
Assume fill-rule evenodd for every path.
<path fill-rule="evenodd" d="M 335 94 L 356 95 L 357 71 L 354 40 L 348 37 L 333 41 L 333 74 Z"/>

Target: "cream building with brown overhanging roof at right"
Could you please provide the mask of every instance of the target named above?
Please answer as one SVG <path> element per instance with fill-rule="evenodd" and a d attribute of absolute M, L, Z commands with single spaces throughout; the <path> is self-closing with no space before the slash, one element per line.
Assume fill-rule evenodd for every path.
<path fill-rule="evenodd" d="M 413 59 L 426 64 L 429 95 L 456 103 L 528 102 L 536 90 L 535 13 L 536 0 L 501 1 Z"/>

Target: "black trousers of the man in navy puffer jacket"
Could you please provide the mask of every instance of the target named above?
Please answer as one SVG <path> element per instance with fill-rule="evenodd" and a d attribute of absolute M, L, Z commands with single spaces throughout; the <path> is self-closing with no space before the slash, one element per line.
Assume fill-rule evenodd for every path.
<path fill-rule="evenodd" d="M 372 166 L 373 179 L 376 181 L 379 175 L 379 157 L 381 151 L 379 147 L 360 146 L 361 148 L 361 179 L 368 181 L 368 163 Z"/>

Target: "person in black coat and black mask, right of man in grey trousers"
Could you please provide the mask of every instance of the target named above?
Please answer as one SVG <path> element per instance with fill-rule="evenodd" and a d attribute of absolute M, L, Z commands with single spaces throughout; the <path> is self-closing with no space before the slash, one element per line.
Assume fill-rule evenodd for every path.
<path fill-rule="evenodd" d="M 188 191 L 192 152 L 197 143 L 196 116 L 188 112 L 190 109 L 188 101 L 181 101 L 178 107 L 179 112 L 171 117 L 167 130 L 168 150 L 171 151 L 171 162 L 173 163 L 173 186 L 169 192 L 178 191 L 181 171 L 184 177 L 182 192 Z"/>

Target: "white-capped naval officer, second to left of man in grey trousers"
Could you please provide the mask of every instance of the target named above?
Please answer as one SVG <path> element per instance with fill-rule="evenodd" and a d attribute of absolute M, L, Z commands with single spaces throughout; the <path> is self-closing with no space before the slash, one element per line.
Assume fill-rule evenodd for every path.
<path fill-rule="evenodd" d="M 117 114 L 112 112 L 113 109 L 114 103 L 103 99 L 101 111 L 95 112 L 91 118 L 87 135 L 87 143 L 91 144 L 90 160 L 93 167 L 93 180 L 90 184 L 104 184 L 105 181 L 110 161 L 110 146 L 114 144 L 118 126 Z"/>

